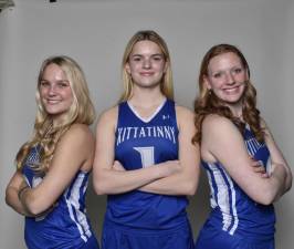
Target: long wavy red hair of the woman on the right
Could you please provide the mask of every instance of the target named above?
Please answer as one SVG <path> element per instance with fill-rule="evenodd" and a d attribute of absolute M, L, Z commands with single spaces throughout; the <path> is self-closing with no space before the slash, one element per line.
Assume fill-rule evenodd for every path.
<path fill-rule="evenodd" d="M 245 90 L 242 96 L 242 116 L 243 121 L 233 116 L 230 108 L 221 101 L 212 91 L 209 91 L 204 84 L 204 77 L 208 77 L 208 66 L 212 58 L 224 53 L 234 53 L 241 60 L 242 65 L 246 70 L 248 81 L 245 82 Z M 199 96 L 195 101 L 195 125 L 197 133 L 193 136 L 195 143 L 201 142 L 201 126 L 204 117 L 209 114 L 218 114 L 231 120 L 243 134 L 245 124 L 249 124 L 251 131 L 255 135 L 259 142 L 264 141 L 264 131 L 260 124 L 260 111 L 256 108 L 256 90 L 250 81 L 250 69 L 249 64 L 242 54 L 242 52 L 234 45 L 231 44 L 218 44 L 212 46 L 204 55 L 199 73 Z"/>

